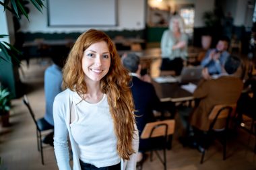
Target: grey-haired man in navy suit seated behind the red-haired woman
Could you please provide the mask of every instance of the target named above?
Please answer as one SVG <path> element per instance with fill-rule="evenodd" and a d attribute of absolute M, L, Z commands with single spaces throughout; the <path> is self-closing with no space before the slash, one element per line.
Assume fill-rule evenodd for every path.
<path fill-rule="evenodd" d="M 135 120 L 137 128 L 139 130 L 139 136 L 143 128 L 148 122 L 156 121 L 154 119 L 153 110 L 161 111 L 161 103 L 156 95 L 154 86 L 151 83 L 143 81 L 140 75 L 141 65 L 139 65 L 139 56 L 133 53 L 124 54 L 123 65 L 131 73 L 131 92 L 135 104 Z M 149 77 L 148 77 L 149 78 Z M 147 140 L 139 139 L 139 151 L 140 148 L 145 147 L 148 144 Z M 138 154 L 137 161 L 142 160 L 142 154 Z"/>

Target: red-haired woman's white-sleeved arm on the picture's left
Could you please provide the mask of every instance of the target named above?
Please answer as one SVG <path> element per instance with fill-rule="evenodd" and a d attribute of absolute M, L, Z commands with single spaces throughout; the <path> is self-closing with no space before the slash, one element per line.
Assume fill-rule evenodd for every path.
<path fill-rule="evenodd" d="M 66 98 L 66 97 L 64 97 Z M 66 103 L 67 104 L 67 103 Z M 63 96 L 57 95 L 53 103 L 54 149 L 57 164 L 61 170 L 71 170 L 69 165 L 69 147 L 67 143 L 67 126 L 65 124 L 65 103 Z"/>

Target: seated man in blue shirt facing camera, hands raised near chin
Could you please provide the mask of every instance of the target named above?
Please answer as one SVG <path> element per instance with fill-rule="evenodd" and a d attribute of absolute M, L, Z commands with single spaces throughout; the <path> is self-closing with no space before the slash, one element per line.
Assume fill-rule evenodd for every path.
<path fill-rule="evenodd" d="M 229 56 L 228 38 L 220 38 L 216 48 L 207 50 L 201 65 L 207 68 L 210 75 L 218 75 L 223 72 L 224 64 Z"/>

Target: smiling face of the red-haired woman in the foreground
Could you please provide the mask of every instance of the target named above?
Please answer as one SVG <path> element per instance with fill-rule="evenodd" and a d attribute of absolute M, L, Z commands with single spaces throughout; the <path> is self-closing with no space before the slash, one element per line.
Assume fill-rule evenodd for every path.
<path fill-rule="evenodd" d="M 106 42 L 96 42 L 84 51 L 82 69 L 85 81 L 100 81 L 110 68 L 110 52 Z"/>

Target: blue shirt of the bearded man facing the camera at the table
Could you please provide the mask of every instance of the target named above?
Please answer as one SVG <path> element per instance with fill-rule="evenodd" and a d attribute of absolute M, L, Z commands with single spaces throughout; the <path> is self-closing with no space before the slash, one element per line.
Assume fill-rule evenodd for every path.
<path fill-rule="evenodd" d="M 212 50 L 215 49 L 207 51 L 207 53 L 205 54 L 205 58 L 203 58 L 203 60 L 201 61 L 201 65 L 203 67 L 207 67 L 210 75 L 220 74 L 222 73 L 222 67 L 225 64 L 226 59 L 228 59 L 229 53 L 227 51 L 224 51 L 220 54 L 220 58 L 218 60 L 211 60 L 210 53 L 212 52 Z"/>

